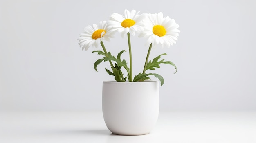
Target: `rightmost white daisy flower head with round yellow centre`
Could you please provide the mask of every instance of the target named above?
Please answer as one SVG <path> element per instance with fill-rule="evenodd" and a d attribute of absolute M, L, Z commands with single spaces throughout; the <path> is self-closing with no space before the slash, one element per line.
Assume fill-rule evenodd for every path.
<path fill-rule="evenodd" d="M 180 30 L 178 24 L 174 19 L 168 16 L 164 18 L 163 13 L 148 14 L 148 18 L 144 19 L 144 31 L 141 32 L 139 37 L 146 37 L 147 44 L 156 46 L 162 44 L 162 46 L 170 47 L 177 41 L 177 36 Z"/>

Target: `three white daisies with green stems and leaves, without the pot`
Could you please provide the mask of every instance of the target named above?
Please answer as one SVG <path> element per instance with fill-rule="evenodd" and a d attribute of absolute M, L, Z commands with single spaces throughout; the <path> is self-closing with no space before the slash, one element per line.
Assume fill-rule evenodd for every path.
<path fill-rule="evenodd" d="M 140 12 L 140 11 L 139 11 Z M 124 11 L 124 15 L 118 13 L 112 13 L 110 20 L 101 21 L 98 25 L 93 24 L 84 28 L 84 32 L 79 35 L 79 46 L 86 51 L 89 47 L 98 47 L 101 45 L 103 51 L 93 51 L 92 53 L 97 53 L 98 55 L 103 55 L 103 58 L 98 59 L 94 63 L 94 69 L 97 71 L 97 65 L 101 62 L 108 61 L 110 63 L 111 70 L 106 69 L 106 72 L 109 75 L 115 77 L 115 80 L 118 82 L 124 82 L 128 78 L 129 82 L 144 81 L 150 79 L 148 76 L 155 76 L 159 79 L 161 86 L 164 84 L 164 78 L 156 73 L 146 73 L 148 70 L 155 70 L 155 68 L 160 68 L 159 64 L 170 64 L 175 67 L 177 72 L 177 67 L 171 61 L 165 61 L 161 59 L 163 53 L 155 57 L 152 61 L 148 61 L 151 48 L 161 44 L 163 47 L 170 47 L 175 44 L 177 41 L 177 36 L 180 33 L 178 24 L 175 23 L 175 20 L 163 16 L 163 13 L 136 13 L 135 10 Z M 117 57 L 112 56 L 108 52 L 103 44 L 103 41 L 110 41 L 110 38 L 113 38 L 114 33 L 119 32 L 121 36 L 124 37 L 127 35 L 128 38 L 128 50 L 129 50 L 129 64 L 126 60 L 121 59 L 122 53 L 126 52 L 122 50 L 118 53 Z M 135 36 L 138 34 L 139 37 L 144 37 L 147 39 L 146 44 L 149 46 L 148 53 L 146 56 L 145 64 L 143 71 L 138 75 L 132 76 L 132 51 L 131 51 L 131 41 L 130 34 Z M 128 67 L 129 65 L 129 67 Z M 127 76 L 124 76 L 123 69 L 126 70 Z M 176 73 L 175 72 L 175 73 Z"/>

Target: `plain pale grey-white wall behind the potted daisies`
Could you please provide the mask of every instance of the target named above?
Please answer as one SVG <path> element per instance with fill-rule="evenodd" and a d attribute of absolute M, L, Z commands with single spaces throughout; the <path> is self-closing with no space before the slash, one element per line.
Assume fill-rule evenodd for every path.
<path fill-rule="evenodd" d="M 101 110 L 102 81 L 113 78 L 108 63 L 94 71 L 101 56 L 82 51 L 77 38 L 124 9 L 163 12 L 180 25 L 177 44 L 150 55 L 167 53 L 178 69 L 155 71 L 165 79 L 160 110 L 256 110 L 255 7 L 255 0 L 1 0 L 0 110 Z M 148 47 L 131 40 L 136 75 Z M 128 51 L 119 34 L 105 46 L 113 55 Z"/>

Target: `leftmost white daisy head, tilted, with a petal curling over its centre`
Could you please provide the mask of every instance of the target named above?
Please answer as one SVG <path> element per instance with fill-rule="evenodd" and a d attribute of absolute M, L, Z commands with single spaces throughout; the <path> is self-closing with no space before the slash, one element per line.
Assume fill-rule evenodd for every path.
<path fill-rule="evenodd" d="M 82 50 L 88 50 L 89 47 L 98 47 L 102 40 L 110 41 L 113 37 L 113 31 L 111 31 L 106 21 L 99 22 L 98 25 L 93 24 L 84 28 L 84 32 L 79 35 L 79 46 Z"/>

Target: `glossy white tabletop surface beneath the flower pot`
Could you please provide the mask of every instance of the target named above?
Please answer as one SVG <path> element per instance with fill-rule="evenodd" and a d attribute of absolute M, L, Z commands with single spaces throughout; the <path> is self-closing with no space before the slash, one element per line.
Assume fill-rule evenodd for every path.
<path fill-rule="evenodd" d="M 256 143 L 256 112 L 161 112 L 150 134 L 120 136 L 102 112 L 0 112 L 0 143 Z"/>

